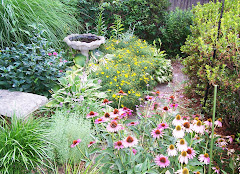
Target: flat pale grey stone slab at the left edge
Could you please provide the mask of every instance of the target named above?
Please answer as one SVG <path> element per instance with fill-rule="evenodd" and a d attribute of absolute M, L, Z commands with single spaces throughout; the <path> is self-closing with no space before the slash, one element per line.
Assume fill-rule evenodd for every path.
<path fill-rule="evenodd" d="M 48 102 L 47 97 L 32 93 L 0 90 L 0 115 L 26 117 Z"/>

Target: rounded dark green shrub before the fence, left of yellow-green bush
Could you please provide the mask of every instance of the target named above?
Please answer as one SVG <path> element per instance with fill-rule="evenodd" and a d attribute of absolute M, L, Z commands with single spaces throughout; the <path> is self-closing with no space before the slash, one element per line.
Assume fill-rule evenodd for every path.
<path fill-rule="evenodd" d="M 183 56 L 180 47 L 191 34 L 190 25 L 192 24 L 192 12 L 176 8 L 168 13 L 164 18 L 164 25 L 160 27 L 162 48 L 166 53 L 175 57 L 177 54 Z"/>

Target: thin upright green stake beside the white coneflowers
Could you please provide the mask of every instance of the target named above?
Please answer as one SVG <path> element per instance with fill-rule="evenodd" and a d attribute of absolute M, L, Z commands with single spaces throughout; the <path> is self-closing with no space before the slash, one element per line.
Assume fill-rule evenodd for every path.
<path fill-rule="evenodd" d="M 208 167 L 208 174 L 211 174 L 211 164 L 212 164 L 212 151 L 213 151 L 213 135 L 214 135 L 214 122 L 216 113 L 216 98 L 217 98 L 217 85 L 214 86 L 214 100 L 213 100 L 213 116 L 212 116 L 212 136 L 211 136 L 211 147 L 210 147 L 210 162 Z"/>

